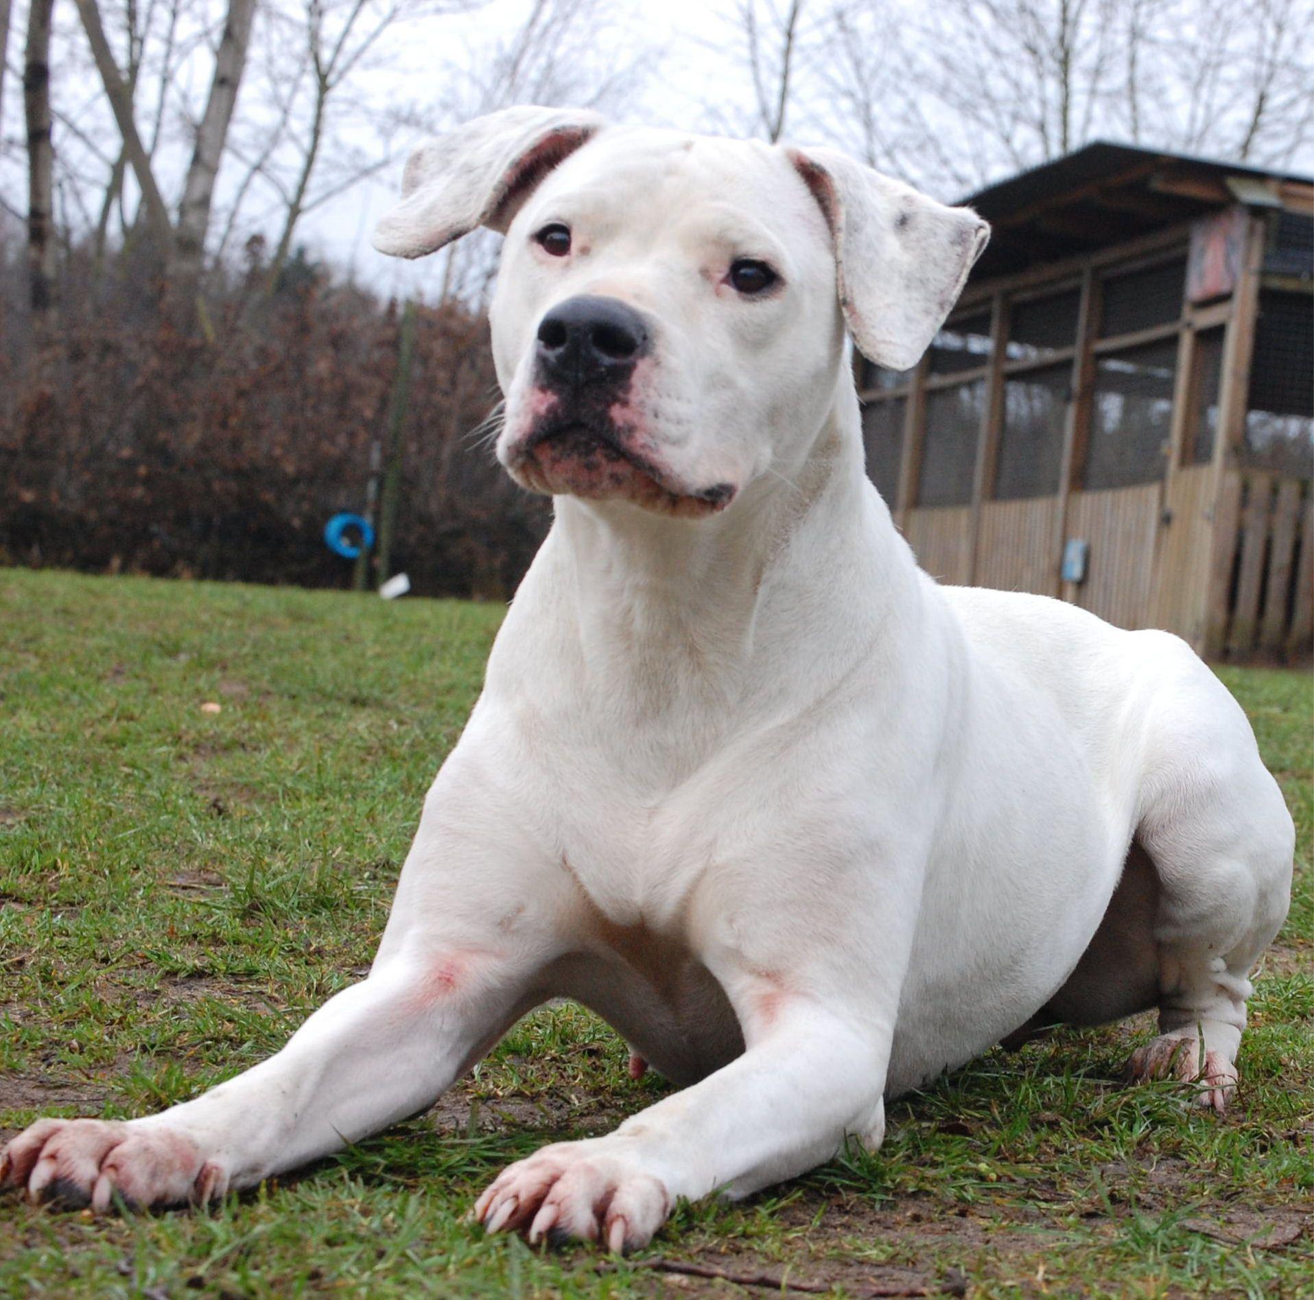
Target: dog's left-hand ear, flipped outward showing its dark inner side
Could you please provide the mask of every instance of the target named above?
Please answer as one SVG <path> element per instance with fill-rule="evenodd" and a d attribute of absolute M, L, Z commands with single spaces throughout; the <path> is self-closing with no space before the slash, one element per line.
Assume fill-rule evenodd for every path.
<path fill-rule="evenodd" d="M 374 247 L 423 258 L 476 226 L 506 231 L 533 187 L 606 125 L 582 108 L 505 108 L 411 154 L 402 201 L 374 229 Z"/>

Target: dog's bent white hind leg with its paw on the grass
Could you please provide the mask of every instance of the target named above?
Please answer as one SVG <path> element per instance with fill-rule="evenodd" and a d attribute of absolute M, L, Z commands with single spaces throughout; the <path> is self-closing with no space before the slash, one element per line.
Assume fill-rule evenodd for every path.
<path fill-rule="evenodd" d="M 1158 882 L 1159 1037 L 1133 1054 L 1129 1075 L 1196 1083 L 1221 1112 L 1236 1086 L 1251 970 L 1286 916 L 1294 829 L 1244 715 L 1196 664 L 1147 753 L 1137 839 Z"/>

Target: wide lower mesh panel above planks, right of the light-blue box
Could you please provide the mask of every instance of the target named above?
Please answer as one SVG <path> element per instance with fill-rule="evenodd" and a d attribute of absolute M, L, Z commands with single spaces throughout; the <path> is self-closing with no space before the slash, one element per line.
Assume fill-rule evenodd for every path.
<path fill-rule="evenodd" d="M 1105 352 L 1096 360 L 1087 490 L 1163 477 L 1176 373 L 1176 338 Z"/>

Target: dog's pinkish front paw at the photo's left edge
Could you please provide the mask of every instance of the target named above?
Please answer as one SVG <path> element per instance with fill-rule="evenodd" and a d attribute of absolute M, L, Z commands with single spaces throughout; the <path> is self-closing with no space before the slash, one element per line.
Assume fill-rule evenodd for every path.
<path fill-rule="evenodd" d="M 109 1209 L 205 1204 L 227 1191 L 227 1174 L 196 1144 L 163 1126 L 120 1120 L 37 1120 L 0 1151 L 0 1187 L 33 1200 Z"/>

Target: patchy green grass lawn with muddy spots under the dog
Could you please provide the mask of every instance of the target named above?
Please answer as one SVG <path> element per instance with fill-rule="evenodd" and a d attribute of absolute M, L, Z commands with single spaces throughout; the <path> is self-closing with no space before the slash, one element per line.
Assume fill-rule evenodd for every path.
<path fill-rule="evenodd" d="M 364 973 L 499 618 L 0 570 L 0 1138 L 180 1100 Z M 0 1296 L 765 1293 L 654 1261 L 851 1296 L 1314 1296 L 1314 686 L 1222 676 L 1301 828 L 1226 1119 L 1120 1084 L 1147 1023 L 1070 1032 L 896 1102 L 876 1155 L 682 1207 L 629 1261 L 543 1253 L 465 1222 L 477 1191 L 664 1090 L 557 1006 L 427 1116 L 213 1213 L 0 1197 Z"/>

